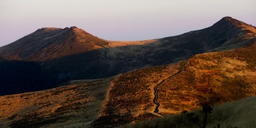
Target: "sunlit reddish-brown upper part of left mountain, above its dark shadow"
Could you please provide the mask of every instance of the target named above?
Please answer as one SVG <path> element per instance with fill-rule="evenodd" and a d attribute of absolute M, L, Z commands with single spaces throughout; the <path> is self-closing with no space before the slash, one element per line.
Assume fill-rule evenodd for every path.
<path fill-rule="evenodd" d="M 77 27 L 41 28 L 1 47 L 1 54 L 11 60 L 45 61 L 92 51 L 107 45 L 108 42 Z"/>

